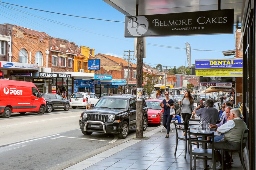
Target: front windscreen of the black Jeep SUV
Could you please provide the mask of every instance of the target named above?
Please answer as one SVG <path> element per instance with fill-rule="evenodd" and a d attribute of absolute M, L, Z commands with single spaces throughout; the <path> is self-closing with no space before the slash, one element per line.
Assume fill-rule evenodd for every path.
<path fill-rule="evenodd" d="M 103 109 L 126 109 L 127 99 L 101 98 L 94 108 Z"/>

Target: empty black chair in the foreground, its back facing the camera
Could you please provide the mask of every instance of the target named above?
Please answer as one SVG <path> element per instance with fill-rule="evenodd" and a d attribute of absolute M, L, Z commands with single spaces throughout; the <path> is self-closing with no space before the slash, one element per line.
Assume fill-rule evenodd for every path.
<path fill-rule="evenodd" d="M 198 140 L 193 136 L 201 136 L 202 138 L 210 137 L 211 140 Z M 192 133 L 188 131 L 188 138 L 190 144 L 190 170 L 192 170 L 192 157 L 194 157 L 194 170 L 196 170 L 196 159 L 212 160 L 212 168 L 216 170 L 215 153 L 214 153 L 214 133 Z M 203 145 L 212 144 L 212 149 L 198 149 L 192 151 L 192 143 L 203 143 Z"/>

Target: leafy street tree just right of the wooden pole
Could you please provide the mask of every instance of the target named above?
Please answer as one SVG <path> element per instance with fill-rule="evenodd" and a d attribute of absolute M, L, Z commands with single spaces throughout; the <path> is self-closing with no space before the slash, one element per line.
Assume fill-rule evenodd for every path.
<path fill-rule="evenodd" d="M 143 88 L 146 90 L 148 96 L 151 96 L 154 86 L 157 84 L 157 76 L 155 74 L 143 73 Z"/>

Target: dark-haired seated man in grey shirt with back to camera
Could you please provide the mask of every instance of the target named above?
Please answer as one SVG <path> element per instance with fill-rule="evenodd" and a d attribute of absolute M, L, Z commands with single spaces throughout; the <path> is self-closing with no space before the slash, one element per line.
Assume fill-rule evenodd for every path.
<path fill-rule="evenodd" d="M 217 109 L 213 108 L 214 101 L 207 99 L 205 104 L 207 107 L 200 108 L 201 105 L 198 105 L 192 114 L 200 116 L 200 121 L 203 119 L 204 123 L 215 124 L 216 120 L 219 120 L 219 112 Z"/>

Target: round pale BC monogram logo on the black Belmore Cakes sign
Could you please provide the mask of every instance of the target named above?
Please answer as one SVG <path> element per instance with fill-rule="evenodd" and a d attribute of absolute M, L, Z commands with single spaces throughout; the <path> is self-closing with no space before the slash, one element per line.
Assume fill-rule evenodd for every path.
<path fill-rule="evenodd" d="M 141 36 L 148 31 L 148 19 L 144 16 L 131 17 L 127 23 L 127 30 L 132 36 Z"/>

